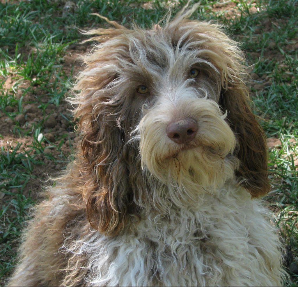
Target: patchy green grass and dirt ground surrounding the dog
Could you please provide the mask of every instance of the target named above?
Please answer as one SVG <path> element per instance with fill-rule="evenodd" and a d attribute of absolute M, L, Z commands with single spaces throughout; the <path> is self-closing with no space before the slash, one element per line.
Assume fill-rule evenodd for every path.
<path fill-rule="evenodd" d="M 15 264 L 16 247 L 30 206 L 38 200 L 44 170 L 63 169 L 69 161 L 73 123 L 63 101 L 71 87 L 74 62 L 82 54 L 79 29 L 106 26 L 99 13 L 122 25 L 131 21 L 146 28 L 180 1 L 77 0 L 63 15 L 63 1 L 0 2 L 0 285 Z M 276 213 L 276 225 L 294 262 L 298 261 L 298 5 L 297 1 L 202 0 L 194 18 L 226 25 L 241 42 L 253 65 L 252 99 L 264 118 L 268 138 L 280 139 L 269 148 L 272 191 L 266 198 Z M 28 105 L 31 105 L 28 108 Z M 26 111 L 26 107 L 28 112 Z M 32 111 L 33 109 L 33 111 Z M 50 120 L 54 120 L 54 124 Z M 56 124 L 55 124 L 56 121 Z M 62 127 L 62 128 L 61 128 Z M 42 135 L 41 135 L 42 134 Z M 34 184 L 32 184 L 35 183 Z M 297 286 L 297 275 L 286 282 Z"/>

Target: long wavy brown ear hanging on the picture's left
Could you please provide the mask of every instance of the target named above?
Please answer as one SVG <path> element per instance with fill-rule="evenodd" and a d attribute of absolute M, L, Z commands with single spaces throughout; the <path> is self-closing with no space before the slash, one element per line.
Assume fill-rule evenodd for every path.
<path fill-rule="evenodd" d="M 87 218 L 93 228 L 106 234 L 120 232 L 134 209 L 129 152 L 123 137 L 119 127 L 97 119 L 82 140 L 88 178 L 83 190 Z"/>

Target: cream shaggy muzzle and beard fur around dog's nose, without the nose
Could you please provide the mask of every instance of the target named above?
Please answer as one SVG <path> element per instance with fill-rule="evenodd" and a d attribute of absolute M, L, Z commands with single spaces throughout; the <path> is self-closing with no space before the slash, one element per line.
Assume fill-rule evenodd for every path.
<path fill-rule="evenodd" d="M 232 177 L 237 165 L 231 156 L 235 136 L 214 101 L 196 99 L 184 105 L 185 116 L 198 123 L 195 139 L 189 144 L 171 141 L 166 134 L 171 113 L 162 108 L 150 110 L 138 127 L 142 167 L 167 186 L 218 188 Z"/>

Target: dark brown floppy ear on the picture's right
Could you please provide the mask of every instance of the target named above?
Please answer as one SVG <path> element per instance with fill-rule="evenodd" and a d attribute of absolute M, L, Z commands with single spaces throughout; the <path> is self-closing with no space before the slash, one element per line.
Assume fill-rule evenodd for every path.
<path fill-rule="evenodd" d="M 243 82 L 228 83 L 221 94 L 220 105 L 227 111 L 227 120 L 238 140 L 236 156 L 240 167 L 236 176 L 252 197 L 265 195 L 271 187 L 267 176 L 267 145 L 263 129 L 249 107 L 248 90 Z"/>

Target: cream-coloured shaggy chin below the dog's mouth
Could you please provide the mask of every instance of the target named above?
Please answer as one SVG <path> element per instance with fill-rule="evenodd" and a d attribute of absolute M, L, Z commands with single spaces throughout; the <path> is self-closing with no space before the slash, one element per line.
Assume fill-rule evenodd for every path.
<path fill-rule="evenodd" d="M 168 186 L 218 187 L 233 176 L 237 162 L 231 155 L 224 155 L 220 147 L 191 143 L 179 147 L 163 157 L 159 156 L 143 167 Z"/>

